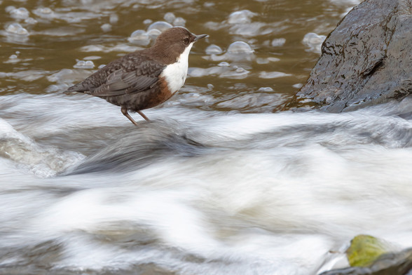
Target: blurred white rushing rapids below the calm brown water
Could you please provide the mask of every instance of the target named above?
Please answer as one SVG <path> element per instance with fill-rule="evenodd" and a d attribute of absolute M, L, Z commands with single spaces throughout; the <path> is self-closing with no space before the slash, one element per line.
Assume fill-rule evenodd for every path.
<path fill-rule="evenodd" d="M 135 127 L 98 98 L 2 96 L 1 274 L 307 275 L 357 234 L 411 247 L 411 104 Z"/>

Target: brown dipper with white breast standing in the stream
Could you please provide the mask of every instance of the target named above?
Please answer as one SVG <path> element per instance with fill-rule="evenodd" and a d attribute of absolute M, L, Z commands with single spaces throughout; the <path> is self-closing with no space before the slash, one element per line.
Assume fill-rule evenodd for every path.
<path fill-rule="evenodd" d="M 149 121 L 142 110 L 165 102 L 183 86 L 193 43 L 206 36 L 183 27 L 166 29 L 151 48 L 110 62 L 67 92 L 88 93 L 118 105 L 135 125 L 128 110 Z"/>

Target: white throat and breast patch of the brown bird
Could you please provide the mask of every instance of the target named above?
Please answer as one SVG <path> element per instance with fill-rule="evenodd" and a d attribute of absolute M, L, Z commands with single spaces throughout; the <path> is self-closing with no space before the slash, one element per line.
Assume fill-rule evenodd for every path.
<path fill-rule="evenodd" d="M 191 51 L 193 43 L 190 43 L 183 53 L 177 59 L 177 62 L 167 65 L 160 76 L 164 76 L 167 83 L 169 83 L 169 89 L 172 93 L 176 93 L 184 81 L 186 81 L 187 69 L 188 69 L 188 55 Z"/>

